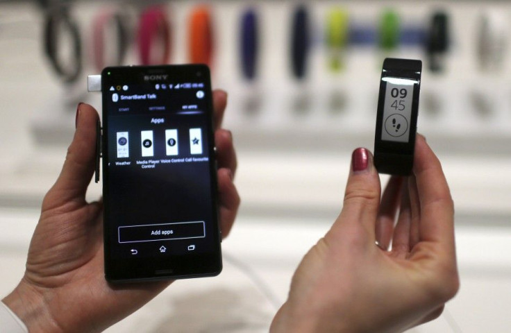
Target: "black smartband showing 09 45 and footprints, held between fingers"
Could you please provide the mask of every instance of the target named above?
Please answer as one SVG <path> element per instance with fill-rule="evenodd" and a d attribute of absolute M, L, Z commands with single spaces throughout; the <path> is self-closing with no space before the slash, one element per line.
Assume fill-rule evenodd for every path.
<path fill-rule="evenodd" d="M 374 165 L 379 173 L 412 173 L 421 71 L 421 60 L 387 58 L 383 62 L 374 137 Z"/>

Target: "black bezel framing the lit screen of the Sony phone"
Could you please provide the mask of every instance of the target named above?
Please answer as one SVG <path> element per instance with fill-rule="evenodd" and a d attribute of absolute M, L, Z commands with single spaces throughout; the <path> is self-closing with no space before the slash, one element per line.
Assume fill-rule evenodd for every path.
<path fill-rule="evenodd" d="M 208 156 L 210 173 L 210 198 L 215 232 L 208 234 L 215 244 L 209 253 L 187 253 L 185 255 L 172 255 L 169 257 L 128 257 L 114 258 L 110 255 L 110 232 L 112 230 L 108 221 L 110 198 L 108 197 L 109 170 L 108 162 L 108 91 L 112 86 L 112 80 L 129 84 L 144 83 L 144 76 L 168 75 L 171 80 L 184 82 L 191 79 L 200 79 L 204 83 L 206 92 L 206 117 L 208 126 Z M 210 83 L 210 71 L 206 65 L 162 65 L 162 66 L 129 66 L 129 67 L 106 67 L 101 73 L 101 92 L 103 93 L 103 232 L 104 232 L 104 257 L 105 276 L 109 282 L 136 282 L 146 280 L 169 280 L 180 278 L 198 278 L 203 276 L 218 275 L 222 269 L 221 246 L 219 232 L 219 216 L 217 209 L 217 167 L 215 161 L 214 125 L 212 89 Z"/>

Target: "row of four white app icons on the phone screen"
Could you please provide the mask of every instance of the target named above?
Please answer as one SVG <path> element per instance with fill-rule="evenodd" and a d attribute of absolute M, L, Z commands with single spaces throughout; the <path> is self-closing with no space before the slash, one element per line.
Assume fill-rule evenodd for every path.
<path fill-rule="evenodd" d="M 190 128 L 189 130 L 190 154 L 202 154 L 202 130 L 201 128 Z M 142 157 L 154 156 L 154 139 L 152 130 L 140 131 L 140 149 Z M 129 133 L 117 132 L 117 158 L 130 157 Z M 178 130 L 165 130 L 165 153 L 167 156 L 179 155 Z"/>

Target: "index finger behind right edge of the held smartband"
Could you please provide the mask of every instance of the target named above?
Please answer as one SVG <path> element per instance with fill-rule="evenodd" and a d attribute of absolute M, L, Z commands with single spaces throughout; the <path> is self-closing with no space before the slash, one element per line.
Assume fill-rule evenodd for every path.
<path fill-rule="evenodd" d="M 413 172 L 420 203 L 420 240 L 454 247 L 454 205 L 451 191 L 440 161 L 421 135 L 417 135 L 415 142 Z"/>

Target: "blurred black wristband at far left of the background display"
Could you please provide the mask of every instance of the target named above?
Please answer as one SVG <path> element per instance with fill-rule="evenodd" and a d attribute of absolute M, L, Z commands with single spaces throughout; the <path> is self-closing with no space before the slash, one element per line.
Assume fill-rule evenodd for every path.
<path fill-rule="evenodd" d="M 64 33 L 68 33 L 72 40 L 72 54 L 65 61 L 60 58 L 58 51 Z M 52 7 L 47 11 L 44 22 L 44 51 L 58 76 L 66 83 L 76 81 L 82 71 L 81 36 L 76 22 L 63 6 Z"/>

